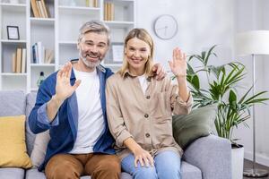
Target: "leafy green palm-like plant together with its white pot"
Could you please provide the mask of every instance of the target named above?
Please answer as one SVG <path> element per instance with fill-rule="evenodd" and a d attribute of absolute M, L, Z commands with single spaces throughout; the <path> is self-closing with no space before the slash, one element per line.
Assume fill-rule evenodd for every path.
<path fill-rule="evenodd" d="M 250 107 L 268 100 L 268 98 L 262 97 L 267 91 L 251 95 L 250 92 L 253 89 L 253 86 L 251 86 L 245 92 L 239 93 L 239 82 L 243 81 L 246 76 L 245 65 L 239 62 L 218 66 L 209 64 L 212 55 L 217 57 L 213 52 L 215 47 L 203 51 L 201 55 L 190 55 L 188 57 L 187 81 L 194 98 L 194 107 L 216 104 L 217 115 L 214 124 L 218 136 L 231 141 L 232 158 L 234 157 L 233 152 L 240 151 L 241 159 L 236 159 L 236 161 L 240 161 L 240 166 L 232 166 L 237 168 L 236 170 L 239 172 L 239 174 L 232 174 L 233 178 L 239 179 L 243 175 L 244 149 L 236 142 L 237 139 L 234 139 L 232 134 L 239 124 L 247 126 L 245 122 L 250 118 Z M 192 61 L 197 61 L 201 65 L 194 68 L 190 65 Z M 202 73 L 206 78 L 204 88 L 201 87 L 200 77 Z"/>

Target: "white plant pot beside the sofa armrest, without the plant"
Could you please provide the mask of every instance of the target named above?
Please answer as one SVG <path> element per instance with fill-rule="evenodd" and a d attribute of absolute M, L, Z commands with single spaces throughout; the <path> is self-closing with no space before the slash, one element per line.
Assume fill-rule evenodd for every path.
<path fill-rule="evenodd" d="M 231 145 L 231 178 L 242 179 L 244 167 L 244 146 Z"/>

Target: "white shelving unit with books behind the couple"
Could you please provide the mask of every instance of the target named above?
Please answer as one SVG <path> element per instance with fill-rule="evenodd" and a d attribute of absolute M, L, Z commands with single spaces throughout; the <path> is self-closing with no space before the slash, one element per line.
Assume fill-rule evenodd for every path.
<path fill-rule="evenodd" d="M 68 0 L 45 0 L 50 18 L 35 18 L 30 0 L 18 0 L 19 4 L 8 2 L 0 0 L 0 90 L 38 90 L 40 72 L 47 77 L 69 60 L 78 58 L 79 28 L 86 21 L 104 21 L 105 2 L 112 2 L 115 7 L 114 21 L 104 21 L 111 30 L 112 45 L 123 43 L 126 33 L 135 27 L 134 0 L 98 0 L 97 7 L 87 7 L 85 0 L 76 0 L 72 5 Z M 19 40 L 7 38 L 9 25 L 19 27 Z M 33 64 L 32 46 L 38 41 L 54 51 L 52 64 Z M 25 73 L 12 72 L 12 54 L 17 47 L 27 49 Z M 117 70 L 121 64 L 113 62 L 111 56 L 109 49 L 102 64 Z"/>

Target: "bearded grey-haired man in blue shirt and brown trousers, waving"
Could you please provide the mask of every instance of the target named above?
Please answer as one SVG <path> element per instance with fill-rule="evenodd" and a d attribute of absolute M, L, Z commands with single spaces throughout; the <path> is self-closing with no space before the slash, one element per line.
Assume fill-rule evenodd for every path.
<path fill-rule="evenodd" d="M 100 65 L 108 46 L 108 27 L 100 21 L 86 22 L 78 38 L 79 59 L 52 73 L 39 87 L 29 125 L 34 133 L 49 130 L 51 139 L 39 166 L 48 179 L 119 178 L 105 98 L 106 80 L 113 72 Z M 154 68 L 162 78 L 161 67 Z"/>

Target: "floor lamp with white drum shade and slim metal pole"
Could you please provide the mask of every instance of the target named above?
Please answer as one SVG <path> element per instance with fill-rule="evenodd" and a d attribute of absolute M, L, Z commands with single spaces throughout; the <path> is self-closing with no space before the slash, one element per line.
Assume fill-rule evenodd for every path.
<path fill-rule="evenodd" d="M 253 96 L 256 90 L 256 55 L 269 55 L 269 30 L 251 30 L 239 33 L 236 40 L 238 55 L 252 55 L 253 72 Z M 247 177 L 263 177 L 268 175 L 268 171 L 256 168 L 256 118 L 255 105 L 252 107 L 253 117 L 253 166 L 246 168 L 244 175 Z"/>

